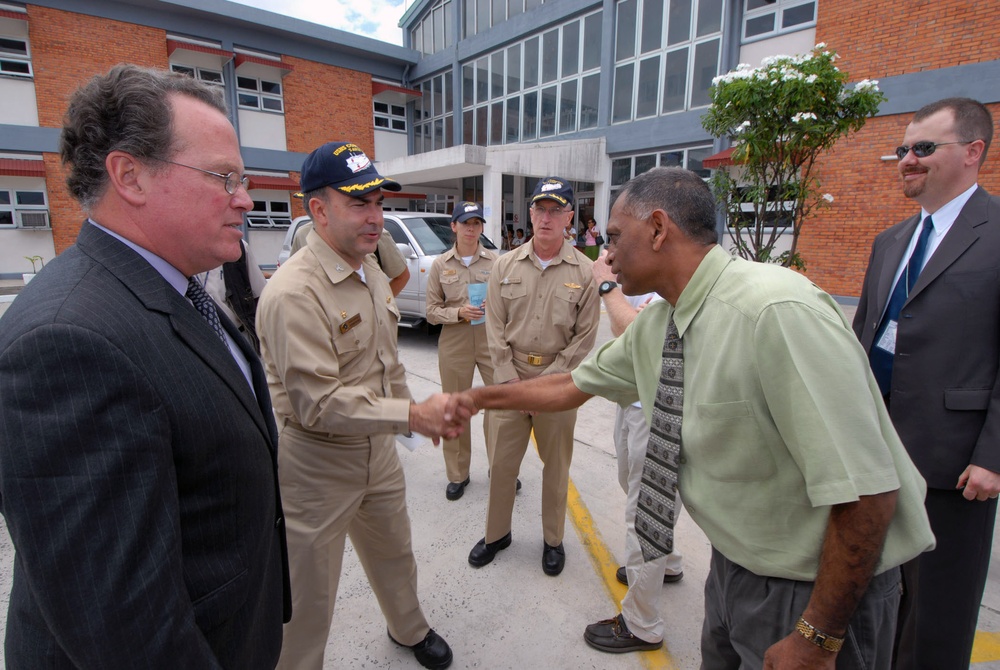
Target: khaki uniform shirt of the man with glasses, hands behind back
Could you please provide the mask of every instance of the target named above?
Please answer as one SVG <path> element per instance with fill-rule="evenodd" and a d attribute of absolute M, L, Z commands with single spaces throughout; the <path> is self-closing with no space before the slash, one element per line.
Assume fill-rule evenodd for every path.
<path fill-rule="evenodd" d="M 592 261 L 563 241 L 542 270 L 529 241 L 493 265 L 486 293 L 486 333 L 493 381 L 519 379 L 513 357 L 552 358 L 539 374 L 573 370 L 594 346 L 601 299 L 590 272 Z"/>

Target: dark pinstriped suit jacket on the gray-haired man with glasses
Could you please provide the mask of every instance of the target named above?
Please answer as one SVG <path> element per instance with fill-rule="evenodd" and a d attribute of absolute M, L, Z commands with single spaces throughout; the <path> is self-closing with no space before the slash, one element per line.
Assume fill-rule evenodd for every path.
<path fill-rule="evenodd" d="M 273 668 L 277 434 L 191 304 L 84 224 L 0 321 L 12 668 Z"/>

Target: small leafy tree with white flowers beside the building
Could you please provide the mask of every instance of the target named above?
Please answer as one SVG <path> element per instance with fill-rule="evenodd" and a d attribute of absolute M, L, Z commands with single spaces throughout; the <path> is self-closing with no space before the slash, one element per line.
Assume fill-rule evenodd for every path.
<path fill-rule="evenodd" d="M 817 44 L 806 56 L 765 58 L 758 68 L 739 65 L 712 81 L 705 130 L 734 143 L 734 174 L 716 170 L 713 188 L 729 215 L 730 236 L 743 258 L 805 270 L 799 234 L 813 207 L 833 202 L 821 195 L 816 159 L 878 112 L 885 96 L 878 82 L 848 86 L 834 65 L 837 55 Z M 791 229 L 788 251 L 774 253 Z"/>

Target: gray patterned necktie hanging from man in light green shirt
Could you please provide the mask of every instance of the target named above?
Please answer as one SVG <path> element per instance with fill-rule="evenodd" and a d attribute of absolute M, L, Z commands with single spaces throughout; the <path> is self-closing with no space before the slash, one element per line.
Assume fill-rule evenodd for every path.
<path fill-rule="evenodd" d="M 635 530 L 642 558 L 652 561 L 674 550 L 677 470 L 681 453 L 681 419 L 684 413 L 684 347 L 677 325 L 670 317 L 663 341 L 660 385 L 653 402 L 649 444 L 642 465 Z"/>

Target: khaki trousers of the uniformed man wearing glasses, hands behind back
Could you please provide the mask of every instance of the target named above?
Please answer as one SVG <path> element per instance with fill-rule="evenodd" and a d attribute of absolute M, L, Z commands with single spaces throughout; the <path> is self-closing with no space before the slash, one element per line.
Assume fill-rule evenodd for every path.
<path fill-rule="evenodd" d="M 514 361 L 518 376 L 537 376 L 540 367 Z M 496 410 L 490 420 L 493 462 L 490 464 L 490 498 L 486 505 L 486 541 L 496 542 L 510 532 L 517 492 L 517 475 L 535 431 L 538 456 L 542 459 L 542 534 L 550 546 L 562 542 L 566 527 L 566 495 L 569 466 L 573 460 L 573 429 L 576 410 L 540 412 L 535 416 L 517 410 Z"/>

